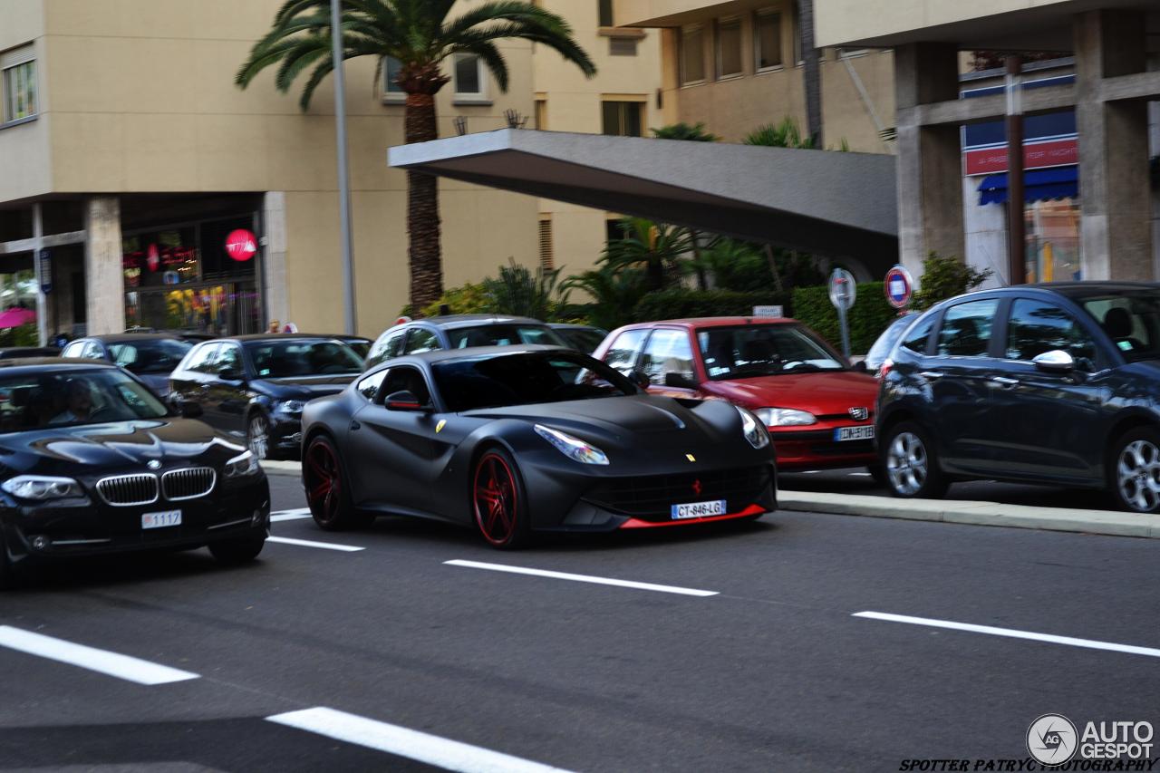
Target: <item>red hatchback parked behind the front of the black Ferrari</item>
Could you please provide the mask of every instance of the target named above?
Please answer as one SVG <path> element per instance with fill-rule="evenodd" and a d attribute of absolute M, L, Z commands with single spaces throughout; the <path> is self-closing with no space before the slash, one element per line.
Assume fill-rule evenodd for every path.
<path fill-rule="evenodd" d="M 726 399 L 769 427 L 782 471 L 877 472 L 878 382 L 793 319 L 710 317 L 628 325 L 593 355 L 672 397 Z"/>

